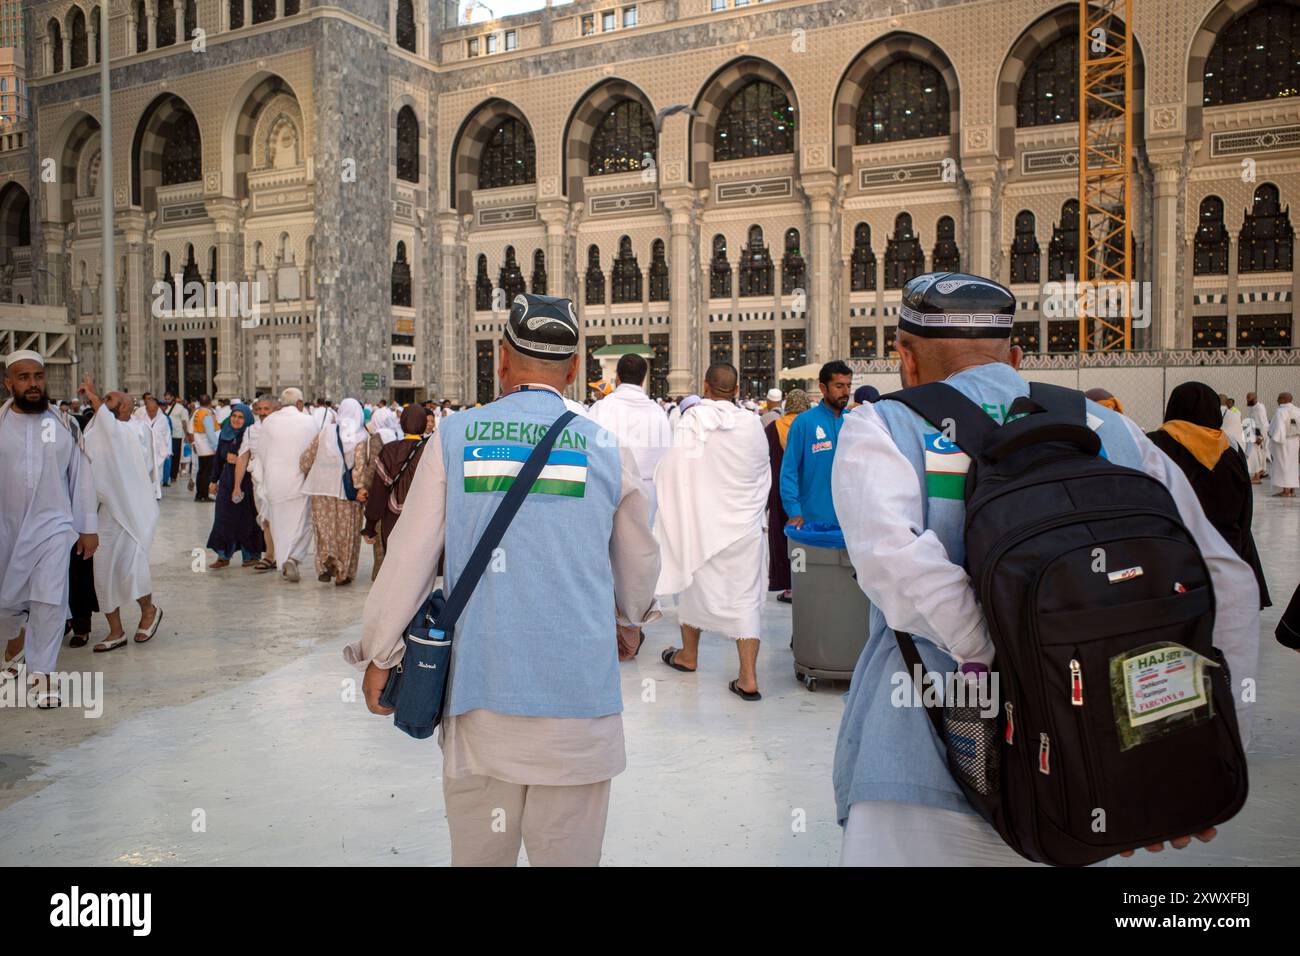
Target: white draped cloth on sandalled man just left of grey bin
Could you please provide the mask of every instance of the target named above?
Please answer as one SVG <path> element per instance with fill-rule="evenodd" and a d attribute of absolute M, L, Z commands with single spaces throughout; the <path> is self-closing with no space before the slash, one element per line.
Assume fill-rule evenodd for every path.
<path fill-rule="evenodd" d="M 757 415 L 703 399 L 677 423 L 654 476 L 658 594 L 677 594 L 682 624 L 758 637 L 767 589 L 763 520 L 772 470 Z"/>

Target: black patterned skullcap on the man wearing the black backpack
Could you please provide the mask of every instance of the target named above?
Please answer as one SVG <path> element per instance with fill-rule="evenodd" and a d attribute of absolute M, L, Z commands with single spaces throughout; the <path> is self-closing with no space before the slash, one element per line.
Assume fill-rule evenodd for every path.
<path fill-rule="evenodd" d="M 927 272 L 902 289 L 898 329 L 924 338 L 1010 338 L 1011 290 L 965 272 Z"/>

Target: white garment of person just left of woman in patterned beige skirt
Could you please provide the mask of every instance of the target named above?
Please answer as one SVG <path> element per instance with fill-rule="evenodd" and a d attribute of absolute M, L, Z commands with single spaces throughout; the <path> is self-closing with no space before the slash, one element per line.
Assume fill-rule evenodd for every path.
<path fill-rule="evenodd" d="M 257 454 L 270 519 L 276 557 L 299 563 L 312 542 L 311 498 L 303 490 L 306 476 L 299 466 L 303 451 L 316 437 L 316 423 L 291 405 L 273 411 L 261 423 Z"/>

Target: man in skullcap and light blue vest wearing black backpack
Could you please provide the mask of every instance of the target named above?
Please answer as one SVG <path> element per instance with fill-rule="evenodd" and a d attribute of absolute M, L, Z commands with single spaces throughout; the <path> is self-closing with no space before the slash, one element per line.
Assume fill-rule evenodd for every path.
<path fill-rule="evenodd" d="M 1010 345 L 1015 299 L 975 276 L 931 273 L 904 289 L 898 323 L 905 386 L 946 381 L 1001 424 L 1030 392 Z M 1249 566 L 1201 511 L 1183 472 L 1136 424 L 1087 403 L 1102 454 L 1173 493 L 1214 585 L 1214 645 L 1234 679 L 1253 679 L 1258 591 Z M 1015 865 L 1026 861 L 978 817 L 949 775 L 944 747 L 919 706 L 896 706 L 907 669 L 890 628 L 910 632 L 926 670 L 992 663 L 993 646 L 963 568 L 965 471 L 970 460 L 904 405 L 881 401 L 845 416 L 832 472 L 835 509 L 871 598 L 871 633 L 853 674 L 835 753 L 845 865 Z M 910 695 L 902 695 L 911 700 Z M 1249 713 L 1238 701 L 1243 744 Z M 1213 831 L 1200 834 L 1208 840 Z M 1174 840 L 1187 845 L 1191 838 Z M 1156 847 L 1154 849 L 1158 849 Z"/>

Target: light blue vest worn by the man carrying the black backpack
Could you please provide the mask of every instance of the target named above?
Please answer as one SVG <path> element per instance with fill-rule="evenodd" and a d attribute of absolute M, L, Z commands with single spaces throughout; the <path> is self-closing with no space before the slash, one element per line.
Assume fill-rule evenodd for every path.
<path fill-rule="evenodd" d="M 1010 405 L 1030 392 L 1030 384 L 1002 363 L 965 369 L 950 377 L 948 384 L 983 405 L 998 424 L 1002 424 Z M 933 441 L 932 436 L 939 429 L 898 402 L 880 402 L 876 411 L 894 444 L 916 470 L 918 486 L 927 488 L 924 442 L 927 436 Z M 1088 412 L 1101 419 L 1096 429 L 1102 444 L 1101 454 L 1115 464 L 1140 468 L 1141 453 L 1121 416 L 1093 402 L 1088 402 Z M 861 480 L 871 481 L 870 470 Z M 939 497 L 939 484 L 931 483 L 922 509 L 924 527 L 935 532 L 953 563 L 961 564 L 966 559 L 962 537 L 966 505 L 957 497 Z M 956 670 L 953 658 L 926 640 L 927 635 L 913 636 L 927 671 L 950 674 Z M 893 678 L 906 670 L 893 631 L 880 610 L 872 606 L 871 635 L 845 695 L 844 718 L 835 748 L 835 801 L 841 826 L 849 817 L 849 806 L 861 800 L 897 800 L 974 813 L 948 773 L 946 757 L 924 710 L 890 704 Z"/>

